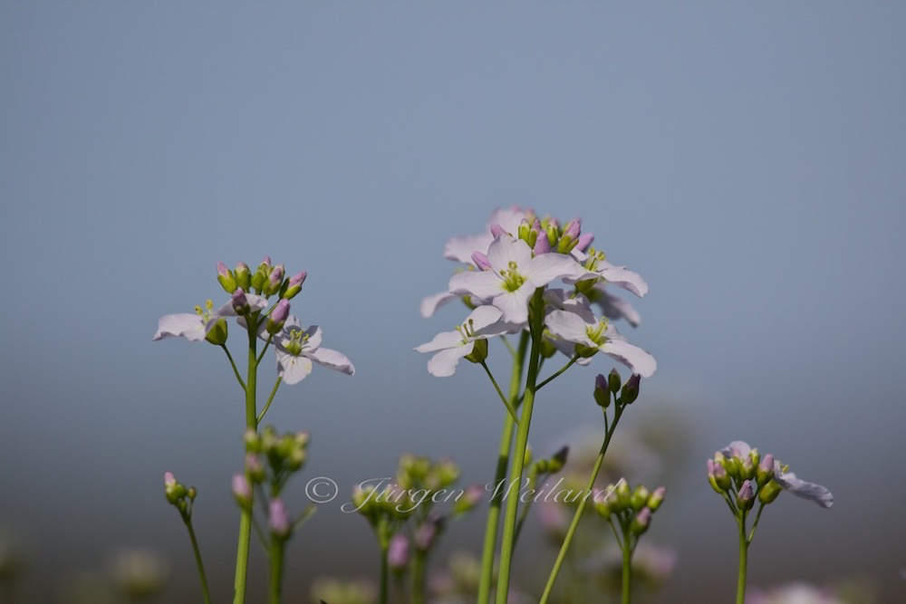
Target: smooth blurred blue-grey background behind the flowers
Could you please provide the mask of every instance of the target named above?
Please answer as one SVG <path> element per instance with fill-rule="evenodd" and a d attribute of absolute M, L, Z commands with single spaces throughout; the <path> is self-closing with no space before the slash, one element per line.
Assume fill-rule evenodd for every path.
<path fill-rule="evenodd" d="M 198 487 L 212 595 L 230 597 L 241 393 L 213 347 L 151 341 L 159 316 L 225 299 L 219 260 L 306 270 L 294 313 L 356 365 L 275 400 L 270 422 L 313 435 L 297 487 L 348 494 L 404 452 L 490 480 L 487 379 L 432 378 L 412 348 L 464 316 L 419 316 L 453 269 L 444 242 L 513 204 L 581 216 L 651 285 L 621 329 L 660 369 L 626 426 L 684 443 L 660 454 L 646 539 L 676 565 L 655 601 L 732 597 L 735 526 L 704 464 L 737 438 L 835 495 L 771 506 L 750 585 L 903 601 L 904 25 L 898 3 L 3 3 L 0 525 L 20 601 L 72 601 L 124 546 L 168 559 L 162 601 L 198 601 L 165 470 Z M 610 367 L 545 388 L 536 450 L 599 427 Z M 294 539 L 288 601 L 376 576 L 339 503 Z M 483 515 L 439 567 L 479 551 Z M 529 593 L 554 557 L 531 531 Z M 263 597 L 263 556 L 251 574 Z"/>

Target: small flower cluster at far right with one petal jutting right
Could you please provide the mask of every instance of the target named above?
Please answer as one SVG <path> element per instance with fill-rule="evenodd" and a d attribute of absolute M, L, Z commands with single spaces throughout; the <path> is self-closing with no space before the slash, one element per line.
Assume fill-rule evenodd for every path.
<path fill-rule="evenodd" d="M 820 484 L 796 478 L 789 466 L 781 464 L 774 455 L 764 457 L 741 440 L 736 440 L 708 459 L 708 483 L 718 493 L 734 495 L 739 510 L 750 510 L 759 503 L 774 502 L 781 491 L 829 508 L 834 495 Z"/>

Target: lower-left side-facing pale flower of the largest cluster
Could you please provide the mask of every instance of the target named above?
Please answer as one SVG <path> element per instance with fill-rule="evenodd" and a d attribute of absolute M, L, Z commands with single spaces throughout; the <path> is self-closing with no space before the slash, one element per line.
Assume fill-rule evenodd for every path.
<path fill-rule="evenodd" d="M 439 333 L 434 336 L 434 340 L 415 350 L 436 352 L 428 361 L 428 371 L 432 376 L 448 378 L 456 372 L 459 360 L 472 354 L 477 340 L 487 340 L 520 329 L 518 325 L 500 321 L 502 316 L 500 309 L 494 306 L 479 306 L 455 331 Z"/>

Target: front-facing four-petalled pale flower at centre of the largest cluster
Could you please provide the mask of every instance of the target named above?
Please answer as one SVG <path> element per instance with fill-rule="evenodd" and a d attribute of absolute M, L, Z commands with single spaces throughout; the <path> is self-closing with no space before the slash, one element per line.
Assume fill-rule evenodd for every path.
<path fill-rule="evenodd" d="M 503 312 L 502 320 L 523 323 L 528 320 L 528 301 L 535 289 L 564 277 L 582 278 L 589 274 L 566 254 L 532 256 L 521 239 L 501 235 L 487 250 L 487 271 L 467 271 L 450 279 L 451 293 L 468 294 L 473 300 L 489 302 Z"/>

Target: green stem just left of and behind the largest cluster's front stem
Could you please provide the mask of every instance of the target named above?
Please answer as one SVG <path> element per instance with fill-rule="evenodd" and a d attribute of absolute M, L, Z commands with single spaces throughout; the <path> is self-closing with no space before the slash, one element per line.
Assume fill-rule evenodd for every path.
<path fill-rule="evenodd" d="M 513 371 L 510 374 L 509 400 L 516 404 L 519 398 L 519 385 L 522 382 L 522 367 L 525 363 L 525 352 L 528 350 L 528 332 L 519 336 L 519 349 L 513 356 Z M 500 485 L 506 481 L 506 468 L 509 465 L 510 451 L 513 448 L 513 428 L 516 422 L 513 417 L 504 417 L 504 427 L 500 434 L 500 448 L 497 453 L 497 466 L 494 473 L 494 496 L 487 511 L 485 525 L 485 545 L 481 552 L 481 580 L 478 582 L 478 604 L 487 604 L 491 597 L 491 581 L 494 577 L 494 551 L 497 545 L 497 532 L 500 528 L 500 504 L 503 494 L 499 493 Z"/>

